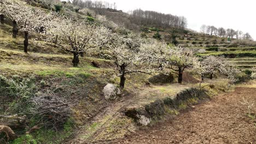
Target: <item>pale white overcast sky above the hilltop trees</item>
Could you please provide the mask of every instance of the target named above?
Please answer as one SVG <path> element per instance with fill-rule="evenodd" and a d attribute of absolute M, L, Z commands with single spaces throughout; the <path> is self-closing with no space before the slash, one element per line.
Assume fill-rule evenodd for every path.
<path fill-rule="evenodd" d="M 118 10 L 153 10 L 185 16 L 188 28 L 200 31 L 202 25 L 239 29 L 256 40 L 255 0 L 103 0 L 116 3 Z"/>

